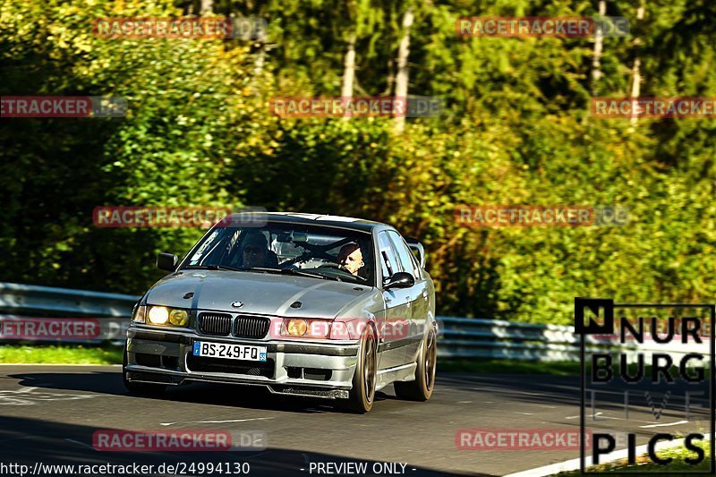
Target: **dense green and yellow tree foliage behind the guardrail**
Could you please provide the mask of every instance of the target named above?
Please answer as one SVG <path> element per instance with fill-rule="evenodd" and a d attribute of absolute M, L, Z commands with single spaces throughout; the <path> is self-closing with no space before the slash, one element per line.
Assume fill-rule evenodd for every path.
<path fill-rule="evenodd" d="M 97 205 L 228 205 L 386 221 L 420 237 L 439 314 L 571 320 L 575 296 L 712 302 L 716 121 L 589 115 L 590 38 L 460 38 L 456 18 L 591 16 L 584 0 L 413 2 L 410 92 L 443 98 L 438 118 L 279 119 L 274 96 L 340 94 L 348 31 L 357 95 L 390 94 L 407 3 L 217 0 L 259 16 L 265 41 L 107 40 L 109 16 L 197 13 L 199 2 L 0 6 L 3 95 L 120 96 L 126 118 L 2 119 L 0 279 L 140 293 L 157 251 L 194 229 L 98 229 Z M 716 96 L 716 6 L 608 3 L 632 35 L 605 38 L 600 96 Z M 641 38 L 639 42 L 636 37 Z M 257 69 L 264 55 L 265 66 Z M 626 226 L 458 226 L 459 205 L 621 205 Z"/>

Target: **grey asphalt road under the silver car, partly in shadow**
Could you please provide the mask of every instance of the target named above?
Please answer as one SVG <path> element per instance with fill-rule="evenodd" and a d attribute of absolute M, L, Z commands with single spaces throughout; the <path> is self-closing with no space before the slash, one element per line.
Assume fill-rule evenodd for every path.
<path fill-rule="evenodd" d="M 622 397 L 609 399 L 615 409 L 598 404 L 603 422 L 615 430 L 633 430 L 635 422 L 641 422 L 639 444 L 656 432 L 693 427 L 678 423 L 683 416 L 677 410 L 655 420 L 646 404 L 622 419 L 616 410 Z M 319 399 L 228 385 L 174 388 L 162 398 L 129 396 L 119 366 L 0 365 L 0 462 L 31 467 L 37 462 L 248 462 L 250 475 L 316 475 L 320 463 L 362 462 L 368 464 L 366 473 L 378 475 L 504 475 L 573 459 L 579 453 L 459 450 L 456 432 L 576 431 L 578 416 L 578 377 L 439 373 L 430 402 L 397 400 L 389 387 L 379 393 L 371 413 L 357 415 Z M 96 430 L 262 430 L 268 448 L 231 453 L 107 452 L 92 446 Z M 390 472 L 385 463 L 407 465 L 403 470 L 398 464 Z M 337 472 L 337 467 L 323 469 L 322 475 Z"/>

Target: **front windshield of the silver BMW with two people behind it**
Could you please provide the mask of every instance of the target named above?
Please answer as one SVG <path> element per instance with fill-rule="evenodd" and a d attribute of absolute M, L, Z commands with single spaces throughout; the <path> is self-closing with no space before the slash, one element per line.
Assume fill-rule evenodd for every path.
<path fill-rule="evenodd" d="M 371 285 L 372 250 L 371 234 L 334 227 L 215 227 L 197 243 L 182 269 L 280 273 Z"/>

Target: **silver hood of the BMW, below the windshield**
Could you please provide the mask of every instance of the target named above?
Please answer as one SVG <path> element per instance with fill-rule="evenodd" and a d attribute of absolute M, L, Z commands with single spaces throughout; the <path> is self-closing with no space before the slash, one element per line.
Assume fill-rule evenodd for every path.
<path fill-rule="evenodd" d="M 147 303 L 272 316 L 335 318 L 372 294 L 371 286 L 258 272 L 182 270 L 157 282 Z M 189 298 L 184 298 L 193 294 Z M 232 306 L 242 302 L 241 307 Z M 301 302 L 300 308 L 292 303 Z M 238 303 L 237 303 L 238 304 Z M 295 306 L 295 305 L 294 305 Z"/>

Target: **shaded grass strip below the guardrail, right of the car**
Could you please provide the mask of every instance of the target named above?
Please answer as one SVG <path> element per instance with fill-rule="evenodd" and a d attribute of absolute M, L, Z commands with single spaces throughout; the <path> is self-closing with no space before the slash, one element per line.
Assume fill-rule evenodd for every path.
<path fill-rule="evenodd" d="M 579 374 L 579 362 L 526 362 L 482 358 L 439 358 L 438 372 L 502 374 Z"/>

